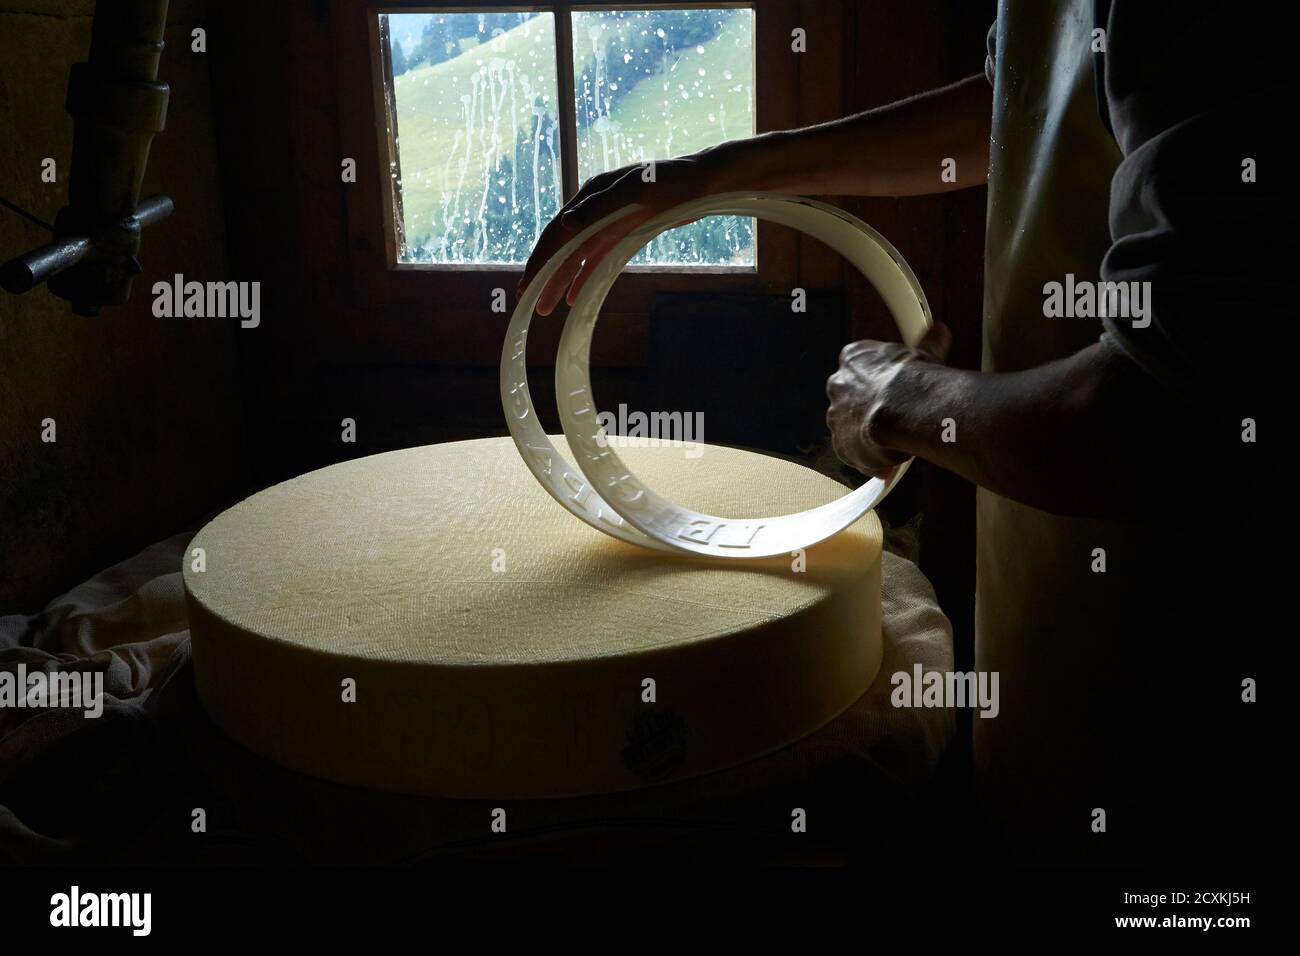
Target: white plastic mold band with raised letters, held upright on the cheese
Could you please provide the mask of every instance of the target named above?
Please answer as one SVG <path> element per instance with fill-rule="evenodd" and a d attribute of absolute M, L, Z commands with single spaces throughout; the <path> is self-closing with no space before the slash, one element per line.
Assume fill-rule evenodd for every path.
<path fill-rule="evenodd" d="M 559 265 L 590 235 L 628 215 L 620 209 L 571 239 L 542 267 L 511 317 L 500 364 L 500 395 L 510 432 L 529 470 L 560 505 L 607 535 L 676 553 L 764 558 L 807 548 L 874 509 L 907 470 L 871 479 L 820 507 L 775 518 L 722 518 L 682 507 L 646 488 L 603 441 L 592 398 L 592 336 L 601 306 L 628 260 L 659 233 L 703 216 L 753 216 L 820 239 L 867 278 L 893 315 L 904 342 L 914 345 L 931 325 L 930 306 L 915 274 L 884 237 L 833 206 L 771 193 L 728 193 L 682 203 L 632 230 L 601 260 L 578 293 L 560 334 L 555 397 L 575 468 L 547 438 L 528 395 L 525 347 L 537 298 Z M 755 398 L 758 401 L 758 398 Z M 601 489 L 599 493 L 597 489 Z"/>

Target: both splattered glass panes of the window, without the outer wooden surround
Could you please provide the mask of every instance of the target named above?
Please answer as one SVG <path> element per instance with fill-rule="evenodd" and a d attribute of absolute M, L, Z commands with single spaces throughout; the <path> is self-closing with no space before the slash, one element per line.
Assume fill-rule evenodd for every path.
<path fill-rule="evenodd" d="M 381 10 L 394 264 L 519 265 L 580 182 L 755 131 L 749 7 Z M 633 264 L 755 265 L 753 220 Z"/>

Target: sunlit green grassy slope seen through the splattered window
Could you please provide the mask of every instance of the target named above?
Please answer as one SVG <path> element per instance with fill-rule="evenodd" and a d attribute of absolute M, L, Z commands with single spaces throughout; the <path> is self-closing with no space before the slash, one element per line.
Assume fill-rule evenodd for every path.
<path fill-rule="evenodd" d="M 433 213 L 441 215 L 443 176 L 454 190 L 459 178 L 460 161 L 465 157 L 464 118 L 460 98 L 473 88 L 472 75 L 494 57 L 514 60 L 516 69 L 524 65 L 533 88 L 555 101 L 554 75 L 555 46 L 547 21 L 521 23 L 494 39 L 465 51 L 460 56 L 436 66 L 420 66 L 396 78 L 398 133 L 402 150 L 402 199 L 406 211 L 407 234 L 422 235 L 430 229 Z M 737 42 L 738 40 L 738 42 Z M 722 118 L 725 114 L 727 138 L 750 135 L 753 116 L 749 112 L 746 86 L 753 86 L 753 43 L 748 33 L 728 25 L 716 38 L 705 44 L 705 52 L 694 48 L 680 53 L 676 69 L 667 77 L 646 77 L 618 103 L 614 120 L 620 127 L 623 163 L 646 157 L 663 159 L 699 150 L 723 139 Z M 588 53 L 586 56 L 590 56 Z M 698 70 L 703 68 L 706 75 Z M 731 79 L 725 73 L 731 72 Z M 538 81 L 537 77 L 546 79 Z M 618 77 L 618 70 L 614 70 Z M 664 81 L 668 90 L 664 91 Z M 682 99 L 684 86 L 689 99 Z M 498 135 L 504 148 L 511 148 L 515 129 L 530 124 L 530 113 L 516 99 L 519 113 L 511 127 L 502 117 Z M 508 112 L 508 98 L 506 112 Z M 667 116 L 666 116 L 667 114 Z M 670 140 L 670 124 L 672 138 Z M 462 131 L 456 143 L 456 133 Z M 668 152 L 671 143 L 671 153 Z M 490 144 L 490 143 L 489 143 Z M 478 130 L 471 138 L 465 189 L 477 203 L 482 189 L 485 144 Z M 584 131 L 578 139 L 578 172 L 586 177 L 594 172 L 590 163 L 603 164 L 604 151 L 599 137 Z M 448 156 L 452 159 L 450 168 Z M 614 151 L 610 151 L 611 161 Z M 523 183 L 520 183 L 523 187 Z M 528 186 L 532 187 L 530 183 Z"/>

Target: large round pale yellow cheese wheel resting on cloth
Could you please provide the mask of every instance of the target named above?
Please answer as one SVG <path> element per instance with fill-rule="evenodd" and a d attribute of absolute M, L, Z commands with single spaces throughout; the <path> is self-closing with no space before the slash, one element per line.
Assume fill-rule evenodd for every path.
<path fill-rule="evenodd" d="M 845 493 L 768 455 L 686 451 L 620 455 L 731 518 Z M 199 532 L 195 682 L 248 749 L 343 783 L 473 799 L 646 786 L 780 748 L 866 691 L 880 544 L 867 514 L 803 555 L 666 555 L 576 520 L 510 438 L 393 451 L 268 488 Z"/>

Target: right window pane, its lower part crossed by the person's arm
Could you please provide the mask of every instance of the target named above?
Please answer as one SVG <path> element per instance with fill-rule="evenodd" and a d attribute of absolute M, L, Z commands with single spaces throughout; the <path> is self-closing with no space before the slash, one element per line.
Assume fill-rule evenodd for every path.
<path fill-rule="evenodd" d="M 751 9 L 572 16 L 580 181 L 754 135 Z M 711 216 L 672 229 L 632 261 L 753 265 L 754 220 Z"/>

